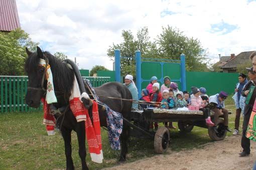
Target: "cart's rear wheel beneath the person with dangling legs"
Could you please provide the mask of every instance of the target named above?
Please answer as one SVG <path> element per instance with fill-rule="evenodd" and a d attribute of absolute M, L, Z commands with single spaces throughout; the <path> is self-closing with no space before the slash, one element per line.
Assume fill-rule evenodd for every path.
<path fill-rule="evenodd" d="M 216 128 L 217 128 L 218 133 L 216 133 L 214 131 L 214 127 L 212 127 L 212 126 L 208 127 L 209 137 L 212 140 L 215 140 L 215 141 L 223 140 L 226 137 L 226 134 L 227 134 L 227 131 L 226 131 L 225 126 L 224 126 L 224 120 L 223 119 L 219 118 L 217 120 Z"/>

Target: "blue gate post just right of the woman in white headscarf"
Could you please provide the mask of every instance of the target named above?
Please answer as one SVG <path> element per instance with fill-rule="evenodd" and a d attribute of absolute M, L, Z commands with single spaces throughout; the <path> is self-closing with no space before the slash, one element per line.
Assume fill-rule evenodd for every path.
<path fill-rule="evenodd" d="M 139 98 L 141 98 L 142 91 L 142 64 L 141 64 L 141 51 L 135 52 L 136 57 L 136 85 L 139 92 Z"/>

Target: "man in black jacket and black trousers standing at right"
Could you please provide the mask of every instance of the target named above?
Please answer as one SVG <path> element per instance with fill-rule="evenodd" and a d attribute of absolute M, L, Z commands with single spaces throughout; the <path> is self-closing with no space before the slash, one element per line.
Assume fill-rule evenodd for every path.
<path fill-rule="evenodd" d="M 249 77 L 249 81 L 244 85 L 244 88 L 242 90 L 241 95 L 247 97 L 248 93 L 249 93 L 249 89 L 250 86 L 254 85 L 255 86 L 255 82 L 256 82 L 256 72 L 254 72 L 252 69 L 253 67 L 250 68 L 246 68 L 248 70 L 248 77 Z M 242 138 L 241 138 L 241 146 L 243 148 L 242 152 L 240 152 L 240 156 L 247 156 L 250 154 L 250 139 L 248 139 L 245 136 L 246 133 L 246 129 L 249 123 L 249 119 L 250 119 L 250 113 L 252 111 L 252 107 L 255 101 L 255 97 L 256 97 L 256 88 L 254 89 L 249 103 L 245 104 L 244 106 L 244 117 L 243 117 L 243 123 L 242 123 Z"/>

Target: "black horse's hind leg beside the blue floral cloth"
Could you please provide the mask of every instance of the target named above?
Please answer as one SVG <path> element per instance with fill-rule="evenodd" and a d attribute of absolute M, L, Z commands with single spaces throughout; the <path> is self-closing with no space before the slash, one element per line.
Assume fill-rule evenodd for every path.
<path fill-rule="evenodd" d="M 129 139 L 129 126 L 126 123 L 123 123 L 122 127 L 122 133 L 121 133 L 121 154 L 119 161 L 125 161 L 126 160 L 126 153 L 128 151 L 127 148 L 127 141 Z"/>

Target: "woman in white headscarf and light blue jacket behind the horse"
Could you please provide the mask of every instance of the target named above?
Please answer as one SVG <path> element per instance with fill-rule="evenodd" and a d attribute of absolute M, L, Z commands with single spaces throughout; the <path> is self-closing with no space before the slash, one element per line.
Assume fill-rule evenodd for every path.
<path fill-rule="evenodd" d="M 134 83 L 133 75 L 127 74 L 124 79 L 124 85 L 130 90 L 132 93 L 133 99 L 138 100 L 138 89 Z M 138 109 L 138 104 L 133 103 L 132 108 Z"/>

